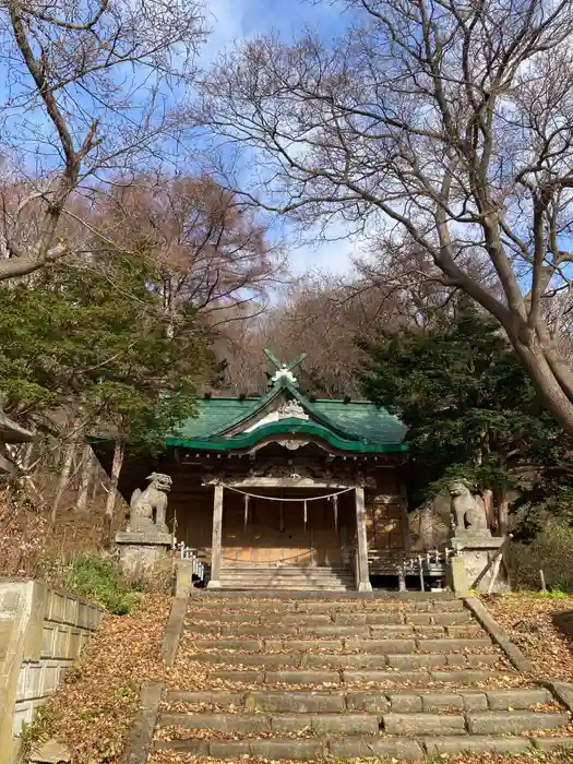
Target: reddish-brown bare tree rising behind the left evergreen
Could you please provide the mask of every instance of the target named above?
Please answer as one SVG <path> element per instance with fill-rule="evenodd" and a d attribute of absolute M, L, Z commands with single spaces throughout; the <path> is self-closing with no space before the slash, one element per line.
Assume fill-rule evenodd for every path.
<path fill-rule="evenodd" d="M 207 177 L 148 172 L 117 180 L 94 226 L 118 250 L 136 242 L 158 264 L 155 286 L 171 330 L 183 306 L 217 330 L 261 313 L 284 273 L 279 246 L 267 240 L 253 210 Z"/>

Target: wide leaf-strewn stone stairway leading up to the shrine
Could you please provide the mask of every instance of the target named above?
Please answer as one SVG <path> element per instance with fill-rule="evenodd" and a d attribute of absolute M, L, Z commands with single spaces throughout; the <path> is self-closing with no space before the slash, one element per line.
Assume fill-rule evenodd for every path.
<path fill-rule="evenodd" d="M 451 595 L 213 593 L 189 601 L 154 750 L 423 761 L 547 750 L 569 736 L 566 709 Z"/>

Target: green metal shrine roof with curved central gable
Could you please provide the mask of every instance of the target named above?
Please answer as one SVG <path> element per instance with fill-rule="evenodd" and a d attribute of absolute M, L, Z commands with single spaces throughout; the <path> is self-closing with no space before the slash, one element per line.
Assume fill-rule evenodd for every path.
<path fill-rule="evenodd" d="M 302 406 L 309 420 L 280 419 L 250 432 L 230 432 L 285 393 Z M 167 438 L 167 445 L 227 451 L 250 447 L 272 434 L 306 433 L 342 451 L 383 453 L 407 450 L 403 444 L 406 428 L 385 409 L 365 401 L 311 401 L 286 379 L 279 380 L 261 397 L 207 397 L 198 404 L 198 416 L 182 422 L 179 431 Z"/>

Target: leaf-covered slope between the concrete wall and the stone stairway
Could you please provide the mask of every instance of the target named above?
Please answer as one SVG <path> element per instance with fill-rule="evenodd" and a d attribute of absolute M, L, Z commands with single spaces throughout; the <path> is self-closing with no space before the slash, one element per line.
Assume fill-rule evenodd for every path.
<path fill-rule="evenodd" d="M 73 764 L 118 764 L 142 682 L 163 680 L 160 645 L 171 598 L 146 594 L 128 616 L 106 616 L 43 711 L 41 731 L 68 745 Z"/>

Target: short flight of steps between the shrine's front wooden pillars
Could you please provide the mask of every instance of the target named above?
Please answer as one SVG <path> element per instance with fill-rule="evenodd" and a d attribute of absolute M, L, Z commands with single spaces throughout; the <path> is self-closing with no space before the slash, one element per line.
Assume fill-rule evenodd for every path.
<path fill-rule="evenodd" d="M 219 578 L 226 590 L 349 592 L 356 588 L 353 572 L 345 568 L 234 565 L 223 568 Z"/>

